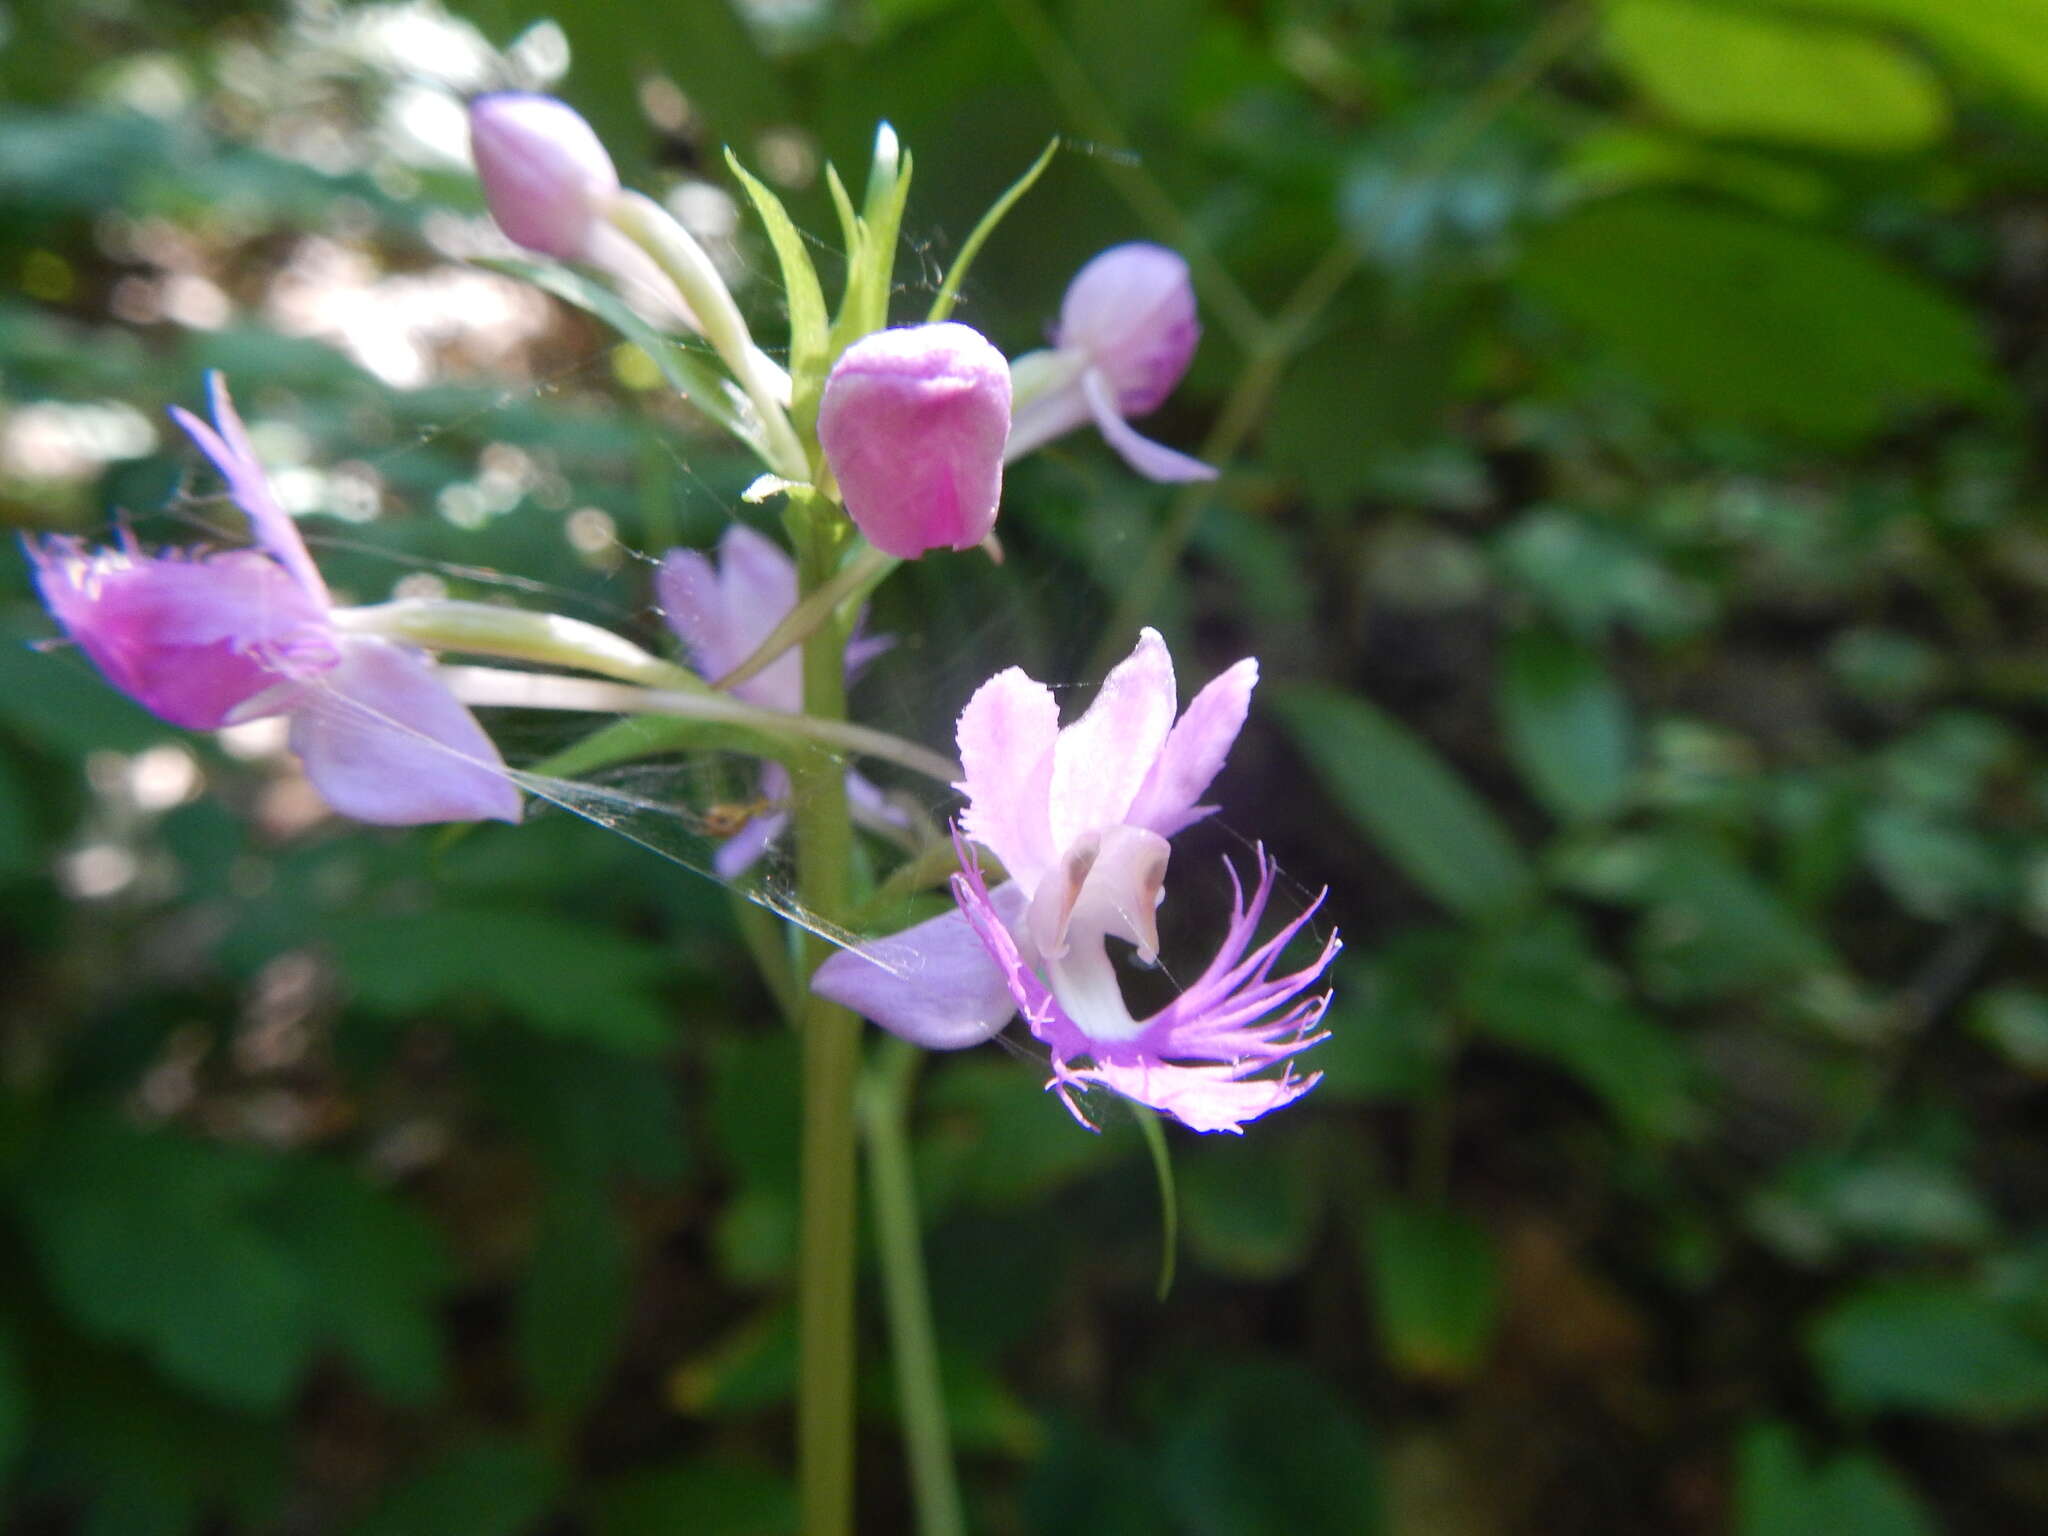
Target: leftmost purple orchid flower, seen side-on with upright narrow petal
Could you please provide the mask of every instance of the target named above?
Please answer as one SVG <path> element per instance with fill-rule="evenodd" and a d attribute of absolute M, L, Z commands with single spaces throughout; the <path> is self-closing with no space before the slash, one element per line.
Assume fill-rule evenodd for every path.
<path fill-rule="evenodd" d="M 270 494 L 221 375 L 213 422 L 172 410 L 227 479 L 256 549 L 29 545 L 43 602 L 106 680 L 193 731 L 287 715 L 291 750 L 342 815 L 383 825 L 518 821 L 498 748 L 428 659 L 344 633 L 297 524 Z"/>

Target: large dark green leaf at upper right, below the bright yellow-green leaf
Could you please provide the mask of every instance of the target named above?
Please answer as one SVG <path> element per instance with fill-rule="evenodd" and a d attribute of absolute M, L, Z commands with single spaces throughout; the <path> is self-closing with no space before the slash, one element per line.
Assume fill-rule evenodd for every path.
<path fill-rule="evenodd" d="M 1522 281 L 1702 416 L 1855 440 L 1903 410 L 2003 391 L 1976 317 L 1946 293 L 1708 203 L 1585 207 L 1532 242 Z"/>

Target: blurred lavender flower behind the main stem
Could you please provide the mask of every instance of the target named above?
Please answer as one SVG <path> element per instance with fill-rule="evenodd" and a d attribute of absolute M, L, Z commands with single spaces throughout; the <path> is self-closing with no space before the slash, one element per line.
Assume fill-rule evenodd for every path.
<path fill-rule="evenodd" d="M 662 616 L 707 678 L 719 678 L 745 662 L 797 606 L 797 565 L 782 553 L 780 545 L 743 522 L 725 530 L 717 561 L 694 549 L 672 549 L 662 557 L 653 582 Z M 854 635 L 846 647 L 848 676 L 891 645 L 895 639 L 889 635 Z M 733 684 L 733 696 L 758 709 L 799 713 L 803 709 L 803 655 L 791 647 L 745 682 Z M 764 762 L 758 780 L 762 803 L 786 807 L 788 791 L 788 770 L 778 762 Z M 846 795 L 860 819 L 905 825 L 903 813 L 889 805 L 883 793 L 860 774 L 846 774 Z M 786 809 L 752 817 L 719 844 L 719 852 L 713 856 L 719 877 L 733 881 L 752 868 L 786 825 Z"/>

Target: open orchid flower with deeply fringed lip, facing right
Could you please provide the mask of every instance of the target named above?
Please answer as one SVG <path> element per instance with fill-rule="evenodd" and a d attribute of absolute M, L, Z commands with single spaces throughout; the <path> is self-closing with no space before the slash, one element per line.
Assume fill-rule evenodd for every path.
<path fill-rule="evenodd" d="M 1133 1018 L 1108 940 L 1159 956 L 1167 838 L 1214 811 L 1198 805 L 1245 723 L 1257 664 L 1239 662 L 1176 721 L 1174 664 L 1151 629 L 1087 713 L 1061 729 L 1053 692 L 1010 668 L 961 713 L 967 797 L 956 838 L 958 907 L 901 934 L 842 950 L 811 979 L 918 1044 L 979 1044 L 1022 1012 L 1053 1051 L 1053 1081 L 1108 1087 L 1196 1130 L 1241 1130 L 1307 1094 L 1292 1057 L 1317 1044 L 1329 993 L 1305 995 L 1337 954 L 1337 936 L 1303 969 L 1274 975 L 1315 899 L 1264 944 L 1260 920 L 1276 866 L 1257 852 L 1257 885 L 1237 891 L 1214 958 L 1180 997 Z M 1001 860 L 989 889 L 965 840 Z M 1278 1073 L 1272 1069 L 1278 1067 Z"/>

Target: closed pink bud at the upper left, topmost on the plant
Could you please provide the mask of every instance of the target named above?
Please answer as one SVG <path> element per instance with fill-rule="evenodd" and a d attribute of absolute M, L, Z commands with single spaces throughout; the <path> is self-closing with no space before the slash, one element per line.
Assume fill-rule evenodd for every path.
<path fill-rule="evenodd" d="M 573 106 L 520 90 L 477 96 L 469 150 L 500 229 L 543 256 L 590 260 L 618 172 Z"/>

